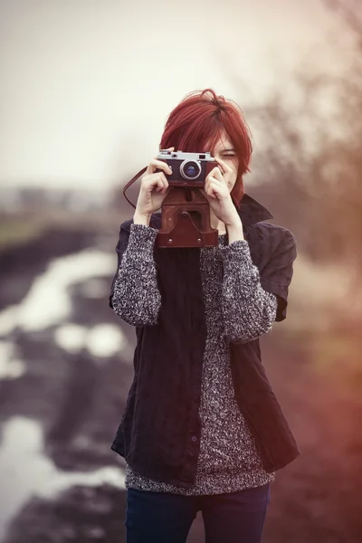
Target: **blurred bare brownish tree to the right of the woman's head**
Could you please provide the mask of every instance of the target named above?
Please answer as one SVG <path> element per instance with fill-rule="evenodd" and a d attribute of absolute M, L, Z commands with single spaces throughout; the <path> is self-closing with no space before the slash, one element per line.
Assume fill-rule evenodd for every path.
<path fill-rule="evenodd" d="M 304 65 L 295 74 L 298 107 L 286 105 L 281 86 L 266 103 L 244 110 L 262 134 L 253 158 L 258 183 L 249 192 L 271 206 L 311 257 L 344 260 L 360 271 L 362 18 L 354 12 L 357 2 L 326 2 L 356 34 L 356 54 L 346 57 L 346 69 L 338 76 L 312 73 Z M 333 107 L 326 114 L 328 104 Z"/>

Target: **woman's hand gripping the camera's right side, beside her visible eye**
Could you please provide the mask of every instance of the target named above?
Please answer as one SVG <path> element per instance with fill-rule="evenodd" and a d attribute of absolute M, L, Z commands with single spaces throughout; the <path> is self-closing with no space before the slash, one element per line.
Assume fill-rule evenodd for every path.
<path fill-rule="evenodd" d="M 220 164 L 220 167 L 214 167 L 211 170 L 205 179 L 205 188 L 201 189 L 201 192 L 207 198 L 214 215 L 225 226 L 232 226 L 240 223 L 240 216 L 233 205 L 233 199 L 227 184 L 228 176 L 233 175 L 233 170 L 224 160 L 220 158 L 214 158 L 214 160 Z"/>

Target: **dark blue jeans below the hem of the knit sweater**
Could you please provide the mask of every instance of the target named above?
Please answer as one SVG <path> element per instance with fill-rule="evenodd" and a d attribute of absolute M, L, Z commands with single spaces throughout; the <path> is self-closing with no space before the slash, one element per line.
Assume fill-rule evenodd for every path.
<path fill-rule="evenodd" d="M 270 483 L 260 487 L 210 496 L 168 492 L 127 491 L 127 543 L 186 543 L 201 510 L 205 543 L 260 543 Z"/>

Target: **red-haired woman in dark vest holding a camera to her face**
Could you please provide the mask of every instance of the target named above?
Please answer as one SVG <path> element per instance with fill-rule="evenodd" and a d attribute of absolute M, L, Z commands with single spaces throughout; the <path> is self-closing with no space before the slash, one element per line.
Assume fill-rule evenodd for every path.
<path fill-rule="evenodd" d="M 261 541 L 275 472 L 300 454 L 262 367 L 259 337 L 285 319 L 291 232 L 243 193 L 242 112 L 206 89 L 167 119 L 160 148 L 211 151 L 204 194 L 218 246 L 155 247 L 170 169 L 153 158 L 121 224 L 110 307 L 136 327 L 135 376 L 111 448 L 126 460 L 127 541 Z"/>

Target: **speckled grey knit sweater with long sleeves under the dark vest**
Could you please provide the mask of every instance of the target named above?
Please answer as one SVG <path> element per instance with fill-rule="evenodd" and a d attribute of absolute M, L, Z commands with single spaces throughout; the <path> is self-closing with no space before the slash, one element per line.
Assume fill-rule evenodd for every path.
<path fill-rule="evenodd" d="M 157 289 L 154 245 L 157 230 L 131 224 L 112 298 L 113 309 L 134 326 L 157 323 L 162 303 Z M 172 249 L 168 249 L 172 251 Z M 165 249 L 166 251 L 166 249 Z M 126 488 L 176 494 L 219 494 L 273 481 L 236 403 L 228 342 L 246 342 L 271 330 L 277 299 L 264 291 L 246 241 L 200 250 L 207 338 L 203 361 L 200 454 L 191 489 L 153 481 L 126 466 Z"/>

